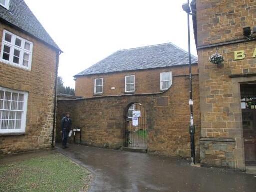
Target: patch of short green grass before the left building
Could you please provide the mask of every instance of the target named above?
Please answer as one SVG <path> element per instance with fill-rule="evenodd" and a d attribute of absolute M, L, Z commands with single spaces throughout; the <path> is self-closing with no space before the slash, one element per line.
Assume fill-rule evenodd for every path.
<path fill-rule="evenodd" d="M 1 192 L 86 192 L 91 174 L 61 154 L 0 165 Z"/>

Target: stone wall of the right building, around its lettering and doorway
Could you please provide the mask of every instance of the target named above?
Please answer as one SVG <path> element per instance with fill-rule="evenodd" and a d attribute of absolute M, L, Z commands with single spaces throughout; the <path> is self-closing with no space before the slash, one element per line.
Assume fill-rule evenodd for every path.
<path fill-rule="evenodd" d="M 198 46 L 244 39 L 243 27 L 256 25 L 254 0 L 197 0 Z M 240 83 L 254 82 L 256 76 L 230 75 L 256 72 L 252 58 L 255 42 L 220 45 L 221 65 L 209 62 L 216 46 L 198 49 L 201 110 L 201 163 L 245 169 Z M 244 50 L 243 60 L 234 51 Z"/>

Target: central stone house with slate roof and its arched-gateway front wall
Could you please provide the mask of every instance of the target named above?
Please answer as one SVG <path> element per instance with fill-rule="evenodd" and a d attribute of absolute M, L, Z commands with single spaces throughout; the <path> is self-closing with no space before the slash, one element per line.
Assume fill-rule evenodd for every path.
<path fill-rule="evenodd" d="M 192 62 L 199 157 L 197 58 Z M 74 76 L 83 99 L 58 101 L 57 123 L 69 111 L 84 144 L 189 157 L 188 72 L 188 53 L 171 43 L 117 51 Z"/>

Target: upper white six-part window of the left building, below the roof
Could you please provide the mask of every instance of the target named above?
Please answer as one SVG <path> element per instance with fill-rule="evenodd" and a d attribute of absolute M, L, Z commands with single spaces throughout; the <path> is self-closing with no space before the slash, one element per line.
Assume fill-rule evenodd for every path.
<path fill-rule="evenodd" d="M 1 61 L 15 66 L 31 69 L 32 43 L 6 30 L 3 31 Z"/>

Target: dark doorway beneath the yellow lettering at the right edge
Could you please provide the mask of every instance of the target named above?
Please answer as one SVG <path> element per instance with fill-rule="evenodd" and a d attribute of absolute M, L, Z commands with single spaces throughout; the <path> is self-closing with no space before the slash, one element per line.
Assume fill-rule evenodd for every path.
<path fill-rule="evenodd" d="M 241 84 L 241 109 L 246 165 L 256 165 L 256 84 Z"/>

